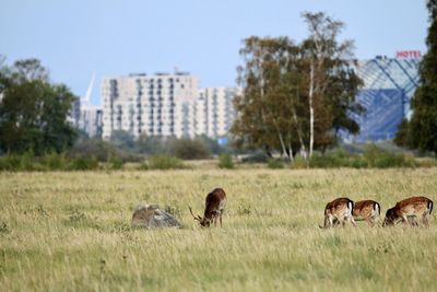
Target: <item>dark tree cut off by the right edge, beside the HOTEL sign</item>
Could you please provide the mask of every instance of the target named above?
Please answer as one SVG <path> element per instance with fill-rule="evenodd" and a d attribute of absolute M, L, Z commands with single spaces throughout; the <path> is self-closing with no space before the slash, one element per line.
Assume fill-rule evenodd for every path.
<path fill-rule="evenodd" d="M 394 142 L 437 154 L 437 0 L 429 0 L 427 52 L 420 66 L 421 84 L 411 102 L 413 115 L 401 124 Z"/>

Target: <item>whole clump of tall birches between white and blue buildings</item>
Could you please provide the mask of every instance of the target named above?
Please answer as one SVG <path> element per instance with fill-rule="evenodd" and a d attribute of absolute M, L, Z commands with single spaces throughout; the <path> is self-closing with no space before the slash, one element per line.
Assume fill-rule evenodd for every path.
<path fill-rule="evenodd" d="M 292 161 L 297 152 L 324 150 L 340 129 L 359 130 L 349 116 L 363 110 L 355 103 L 361 80 L 347 59 L 352 43 L 338 44 L 341 23 L 323 13 L 306 16 L 311 35 L 300 45 L 287 37 L 245 39 L 245 65 L 238 68 L 244 94 L 235 98 L 232 128 L 237 147 L 261 148 L 268 155 L 279 150 Z"/>

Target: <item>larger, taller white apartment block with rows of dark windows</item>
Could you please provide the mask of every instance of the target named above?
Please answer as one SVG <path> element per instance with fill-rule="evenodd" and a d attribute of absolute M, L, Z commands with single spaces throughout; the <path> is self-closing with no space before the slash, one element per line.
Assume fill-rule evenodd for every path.
<path fill-rule="evenodd" d="M 103 138 L 115 130 L 134 137 L 193 137 L 197 96 L 198 79 L 185 72 L 104 78 Z"/>

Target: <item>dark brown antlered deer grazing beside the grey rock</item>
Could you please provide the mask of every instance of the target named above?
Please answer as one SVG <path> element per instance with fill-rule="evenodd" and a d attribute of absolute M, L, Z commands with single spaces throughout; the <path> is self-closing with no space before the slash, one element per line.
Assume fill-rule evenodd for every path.
<path fill-rule="evenodd" d="M 196 217 L 189 207 L 191 215 L 194 220 L 199 221 L 200 225 L 209 227 L 211 222 L 214 221 L 214 226 L 217 225 L 217 218 L 220 219 L 220 226 L 222 226 L 222 214 L 226 206 L 226 194 L 223 188 L 215 188 L 206 195 L 205 209 L 203 218 L 199 214 Z"/>

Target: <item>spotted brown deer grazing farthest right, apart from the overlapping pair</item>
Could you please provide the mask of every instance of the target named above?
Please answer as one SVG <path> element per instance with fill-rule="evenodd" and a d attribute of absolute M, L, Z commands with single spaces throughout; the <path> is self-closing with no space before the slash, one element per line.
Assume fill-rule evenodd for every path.
<path fill-rule="evenodd" d="M 387 210 L 382 226 L 394 225 L 402 221 L 404 224 L 417 226 L 417 219 L 422 218 L 422 223 L 428 226 L 428 215 L 433 211 L 434 202 L 425 197 L 411 197 Z"/>

